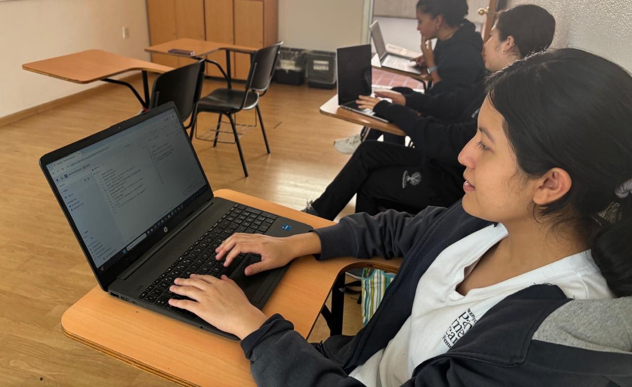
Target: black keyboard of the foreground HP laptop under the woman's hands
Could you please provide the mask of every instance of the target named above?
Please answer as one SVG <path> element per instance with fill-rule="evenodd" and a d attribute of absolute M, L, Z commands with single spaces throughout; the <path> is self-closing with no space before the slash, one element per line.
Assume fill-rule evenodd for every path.
<path fill-rule="evenodd" d="M 276 218 L 276 215 L 252 207 L 234 204 L 233 208 L 217 219 L 209 230 L 182 252 L 152 285 L 147 286 L 138 298 L 194 318 L 193 312 L 169 305 L 169 298 L 190 299 L 169 291 L 173 281 L 176 278 L 189 278 L 191 274 L 208 274 L 219 278 L 222 274 L 229 273 L 231 268 L 224 267 L 226 259 L 215 259 L 215 249 L 233 233 L 264 234 Z M 241 258 L 245 256 L 246 254 L 240 254 Z"/>

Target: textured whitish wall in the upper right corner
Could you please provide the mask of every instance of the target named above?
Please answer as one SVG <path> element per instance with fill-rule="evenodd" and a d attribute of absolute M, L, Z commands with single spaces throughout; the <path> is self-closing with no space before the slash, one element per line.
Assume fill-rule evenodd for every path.
<path fill-rule="evenodd" d="M 536 4 L 556 18 L 552 47 L 574 47 L 632 71 L 632 0 L 509 0 Z"/>

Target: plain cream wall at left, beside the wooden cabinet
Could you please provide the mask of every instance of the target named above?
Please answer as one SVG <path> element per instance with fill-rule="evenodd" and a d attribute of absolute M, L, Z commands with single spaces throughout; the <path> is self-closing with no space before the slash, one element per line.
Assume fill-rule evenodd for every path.
<path fill-rule="evenodd" d="M 0 117 L 102 84 L 46 77 L 23 63 L 86 49 L 149 60 L 148 45 L 145 0 L 0 1 Z"/>

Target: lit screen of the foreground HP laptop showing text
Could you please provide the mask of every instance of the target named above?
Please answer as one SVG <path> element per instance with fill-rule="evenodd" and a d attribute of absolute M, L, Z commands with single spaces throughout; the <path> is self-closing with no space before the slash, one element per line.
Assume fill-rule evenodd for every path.
<path fill-rule="evenodd" d="M 208 187 L 174 109 L 46 168 L 96 267 L 162 230 Z"/>

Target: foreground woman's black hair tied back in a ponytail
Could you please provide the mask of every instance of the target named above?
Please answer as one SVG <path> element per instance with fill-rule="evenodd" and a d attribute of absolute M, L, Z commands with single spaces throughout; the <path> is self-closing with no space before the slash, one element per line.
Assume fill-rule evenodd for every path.
<path fill-rule="evenodd" d="M 595 54 L 558 49 L 490 75 L 487 92 L 521 173 L 558 167 L 571 176 L 569 192 L 534 215 L 573 222 L 612 292 L 632 295 L 632 194 L 615 193 L 632 178 L 632 76 Z"/>

